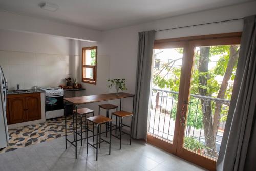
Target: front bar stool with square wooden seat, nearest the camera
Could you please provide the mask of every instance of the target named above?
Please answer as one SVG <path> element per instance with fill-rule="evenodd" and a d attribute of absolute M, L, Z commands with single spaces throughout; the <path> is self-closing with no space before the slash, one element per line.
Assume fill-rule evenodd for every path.
<path fill-rule="evenodd" d="M 87 146 L 86 146 L 86 150 L 87 150 L 87 154 L 88 154 L 88 145 L 92 146 L 93 148 L 96 149 L 96 161 L 98 160 L 98 144 L 99 144 L 99 148 L 100 148 L 100 143 L 101 142 L 106 142 L 108 144 L 110 144 L 109 146 L 109 155 L 110 155 L 110 149 L 111 149 L 111 132 L 112 132 L 112 119 L 102 116 L 102 115 L 98 115 L 98 116 L 93 116 L 93 117 L 89 117 L 87 118 L 87 135 L 88 135 L 88 131 L 89 131 L 89 127 L 88 127 L 88 122 L 92 122 L 93 124 L 97 125 L 97 131 L 96 131 L 96 144 L 91 144 L 88 142 L 87 138 Z M 110 140 L 109 142 L 102 139 L 101 138 L 101 125 L 105 124 L 105 123 L 110 123 Z M 94 127 L 93 127 L 94 129 Z M 99 142 L 98 142 L 98 134 L 99 134 Z M 93 133 L 93 137 L 94 137 L 94 133 Z M 96 147 L 95 147 L 96 145 Z"/>

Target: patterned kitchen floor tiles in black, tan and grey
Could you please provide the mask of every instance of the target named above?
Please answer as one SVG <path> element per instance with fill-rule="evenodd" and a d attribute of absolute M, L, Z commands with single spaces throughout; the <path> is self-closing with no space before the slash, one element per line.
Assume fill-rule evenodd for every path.
<path fill-rule="evenodd" d="M 80 122 L 78 122 L 78 128 L 80 129 L 79 123 Z M 72 134 L 72 130 L 73 119 L 72 117 L 68 117 L 67 134 Z M 45 123 L 19 127 L 18 129 L 10 129 L 8 132 L 10 143 L 6 148 L 2 149 L 0 153 L 13 151 L 17 148 L 26 147 L 65 136 L 65 118 L 56 118 L 47 120 Z"/>

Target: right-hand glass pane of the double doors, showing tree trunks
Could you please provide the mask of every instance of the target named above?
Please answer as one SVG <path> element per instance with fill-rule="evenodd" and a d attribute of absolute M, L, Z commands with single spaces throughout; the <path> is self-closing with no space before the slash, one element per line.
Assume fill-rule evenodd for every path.
<path fill-rule="evenodd" d="M 183 147 L 217 159 L 237 68 L 239 45 L 196 47 Z"/>

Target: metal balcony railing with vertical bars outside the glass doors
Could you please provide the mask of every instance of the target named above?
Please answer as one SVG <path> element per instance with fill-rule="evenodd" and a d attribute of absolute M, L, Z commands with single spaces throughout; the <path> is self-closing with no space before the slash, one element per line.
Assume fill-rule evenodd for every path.
<path fill-rule="evenodd" d="M 166 91 L 161 89 L 152 89 L 151 105 L 149 110 L 148 132 L 158 137 L 173 141 L 175 119 L 180 117 L 177 112 L 178 92 Z M 219 108 L 216 106 L 218 103 Z M 229 108 L 229 100 L 218 99 L 213 97 L 193 95 L 190 94 L 188 114 L 186 117 L 185 137 L 193 137 L 205 148 L 200 150 L 201 154 L 217 158 L 220 144 L 222 140 L 222 133 L 225 126 L 225 119 Z M 218 118 L 218 130 L 214 137 L 215 146 L 207 147 L 205 142 L 203 113 L 210 112 L 212 118 L 215 110 L 219 110 L 220 117 Z M 206 137 L 207 138 L 207 137 Z"/>

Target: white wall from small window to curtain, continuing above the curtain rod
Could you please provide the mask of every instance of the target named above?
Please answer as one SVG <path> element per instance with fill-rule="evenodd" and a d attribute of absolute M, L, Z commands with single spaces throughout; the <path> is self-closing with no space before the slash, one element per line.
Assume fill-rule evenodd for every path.
<path fill-rule="evenodd" d="M 113 29 L 103 32 L 102 41 L 98 43 L 99 55 L 110 56 L 110 78 L 126 78 L 126 92 L 135 93 L 138 32 L 151 29 L 161 30 L 173 27 L 217 22 L 220 20 L 243 18 L 256 14 L 256 2 L 240 4 L 215 10 L 191 13 L 155 22 Z M 181 28 L 156 32 L 156 39 L 186 37 L 216 33 L 242 31 L 243 21 L 202 25 L 197 27 Z M 105 84 L 107 86 L 107 84 Z M 114 92 L 115 90 L 110 90 Z M 118 104 L 116 102 L 116 104 Z M 132 99 L 124 102 L 124 110 L 131 110 Z"/>

